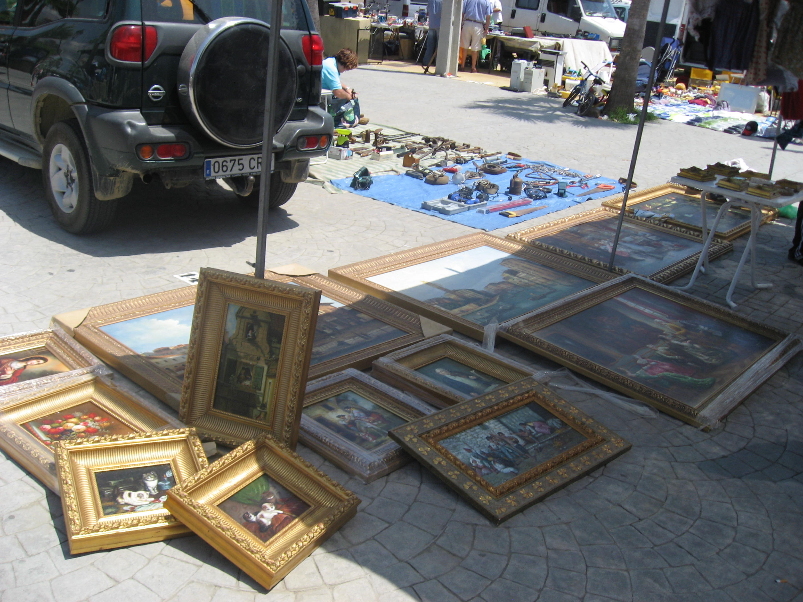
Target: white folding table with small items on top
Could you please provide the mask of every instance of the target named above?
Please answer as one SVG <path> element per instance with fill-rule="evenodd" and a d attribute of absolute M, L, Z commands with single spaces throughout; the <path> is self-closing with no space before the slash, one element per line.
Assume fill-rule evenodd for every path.
<path fill-rule="evenodd" d="M 736 272 L 733 275 L 733 279 L 731 280 L 731 287 L 728 288 L 728 295 L 725 295 L 725 300 L 728 301 L 728 305 L 730 305 L 733 309 L 739 307 L 736 303 L 733 303 L 731 297 L 733 295 L 733 290 L 736 288 L 736 282 L 739 280 L 739 275 L 744 267 L 744 263 L 747 261 L 748 254 L 751 256 L 750 260 L 750 283 L 752 284 L 753 288 L 770 288 L 772 284 L 756 284 L 756 234 L 758 234 L 758 228 L 761 224 L 761 205 L 772 207 L 773 209 L 781 209 L 781 207 L 785 207 L 786 205 L 791 205 L 792 203 L 796 203 L 798 201 L 803 201 L 803 192 L 797 193 L 793 197 L 777 197 L 777 198 L 762 198 L 756 197 L 754 194 L 748 194 L 745 192 L 737 192 L 736 190 L 729 190 L 727 188 L 722 188 L 716 185 L 716 182 L 724 176 L 717 176 L 716 180 L 708 181 L 708 182 L 699 182 L 696 180 L 690 180 L 687 177 L 673 177 L 671 182 L 673 184 L 678 184 L 681 186 L 687 186 L 688 188 L 694 188 L 698 190 L 702 190 L 703 193 L 700 194 L 700 203 L 703 211 L 702 221 L 703 221 L 703 238 L 705 238 L 705 244 L 703 245 L 703 251 L 700 253 L 699 259 L 697 260 L 697 265 L 695 266 L 694 272 L 691 274 L 691 280 L 685 287 L 678 287 L 681 291 L 687 291 L 691 287 L 694 286 L 695 280 L 697 279 L 697 275 L 703 266 L 707 266 L 708 263 L 708 247 L 711 246 L 711 241 L 716 235 L 716 226 L 719 226 L 719 218 L 723 216 L 725 211 L 731 205 L 739 204 L 739 205 L 748 205 L 750 207 L 750 238 L 748 238 L 748 243 L 744 247 L 744 253 L 742 253 L 742 257 L 739 260 L 739 265 L 736 267 Z M 721 194 L 725 197 L 725 202 L 719 207 L 719 211 L 714 218 L 714 224 L 711 226 L 711 232 L 707 233 L 707 223 L 706 223 L 706 205 L 705 205 L 705 197 L 706 193 L 715 193 Z M 707 234 L 707 236 L 706 236 Z M 704 269 L 703 269 L 704 271 Z"/>

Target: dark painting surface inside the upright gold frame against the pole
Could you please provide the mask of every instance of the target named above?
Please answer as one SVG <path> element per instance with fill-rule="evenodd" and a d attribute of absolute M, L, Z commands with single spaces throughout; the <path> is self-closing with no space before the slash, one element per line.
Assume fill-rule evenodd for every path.
<path fill-rule="evenodd" d="M 284 316 L 229 303 L 212 407 L 263 421 L 275 395 Z"/>

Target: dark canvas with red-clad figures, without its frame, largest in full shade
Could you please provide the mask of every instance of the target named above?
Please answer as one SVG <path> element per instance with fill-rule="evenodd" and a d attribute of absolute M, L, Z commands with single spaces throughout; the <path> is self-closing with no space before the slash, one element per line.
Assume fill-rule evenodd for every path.
<path fill-rule="evenodd" d="M 691 407 L 719 391 L 775 344 L 639 289 L 534 334 Z"/>

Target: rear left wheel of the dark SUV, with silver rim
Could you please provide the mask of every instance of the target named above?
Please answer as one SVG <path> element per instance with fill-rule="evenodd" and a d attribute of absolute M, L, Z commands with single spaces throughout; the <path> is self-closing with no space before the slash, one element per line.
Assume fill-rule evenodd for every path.
<path fill-rule="evenodd" d="M 42 183 L 55 221 L 71 234 L 100 232 L 112 223 L 117 201 L 95 196 L 84 137 L 76 120 L 59 121 L 47 132 Z"/>

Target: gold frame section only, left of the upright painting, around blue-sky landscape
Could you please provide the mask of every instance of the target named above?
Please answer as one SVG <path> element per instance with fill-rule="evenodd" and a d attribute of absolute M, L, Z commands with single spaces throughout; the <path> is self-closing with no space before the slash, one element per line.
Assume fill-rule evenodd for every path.
<path fill-rule="evenodd" d="M 181 378 L 159 368 L 144 356 L 126 347 L 109 336 L 101 327 L 192 305 L 195 303 L 197 288 L 181 287 L 173 291 L 91 307 L 84 321 L 73 328 L 73 336 L 112 368 L 128 376 L 171 408 L 178 410 L 181 400 Z"/>

